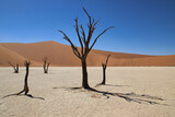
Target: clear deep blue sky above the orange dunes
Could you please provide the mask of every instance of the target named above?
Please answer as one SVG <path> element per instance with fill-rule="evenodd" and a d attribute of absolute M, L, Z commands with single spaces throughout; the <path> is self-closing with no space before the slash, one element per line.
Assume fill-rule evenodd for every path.
<path fill-rule="evenodd" d="M 0 43 L 55 40 L 62 30 L 79 46 L 73 19 L 102 19 L 93 37 L 108 26 L 95 49 L 175 55 L 175 0 L 0 0 Z"/>

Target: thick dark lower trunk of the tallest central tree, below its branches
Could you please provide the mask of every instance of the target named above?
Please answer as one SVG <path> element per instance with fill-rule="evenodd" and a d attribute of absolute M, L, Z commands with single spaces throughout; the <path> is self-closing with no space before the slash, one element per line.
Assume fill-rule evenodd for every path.
<path fill-rule="evenodd" d="M 82 87 L 90 89 L 88 82 L 88 71 L 86 71 L 86 61 L 82 60 Z"/>

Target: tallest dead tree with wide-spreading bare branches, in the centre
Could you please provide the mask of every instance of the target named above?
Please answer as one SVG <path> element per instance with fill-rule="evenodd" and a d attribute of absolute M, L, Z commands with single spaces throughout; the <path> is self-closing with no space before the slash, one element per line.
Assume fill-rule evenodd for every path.
<path fill-rule="evenodd" d="M 110 27 L 104 30 L 92 42 L 92 45 L 90 45 L 90 42 L 92 39 L 92 34 L 94 33 L 94 31 L 96 28 L 95 26 L 100 22 L 100 20 L 95 21 L 94 19 L 92 19 L 91 15 L 86 12 L 86 10 L 84 8 L 83 8 L 83 11 L 85 12 L 85 14 L 89 17 L 89 23 L 88 23 L 89 34 L 88 34 L 88 36 L 85 36 L 85 32 L 84 32 L 83 26 L 78 24 L 78 17 L 74 19 L 74 22 L 75 22 L 74 28 L 75 28 L 75 32 L 77 32 L 77 35 L 78 35 L 78 38 L 79 38 L 79 42 L 80 42 L 80 45 L 81 45 L 80 50 L 78 49 L 78 47 L 71 42 L 71 39 L 62 31 L 59 31 L 59 32 L 63 34 L 63 38 L 70 43 L 73 54 L 81 60 L 81 65 L 82 65 L 82 87 L 90 90 L 91 87 L 89 86 L 88 71 L 86 71 L 88 55 L 92 50 L 93 46 L 95 45 L 95 43 L 100 38 L 100 36 L 102 36 L 107 30 L 109 30 L 114 26 L 110 26 Z M 80 31 L 79 31 L 79 28 L 80 28 Z"/>

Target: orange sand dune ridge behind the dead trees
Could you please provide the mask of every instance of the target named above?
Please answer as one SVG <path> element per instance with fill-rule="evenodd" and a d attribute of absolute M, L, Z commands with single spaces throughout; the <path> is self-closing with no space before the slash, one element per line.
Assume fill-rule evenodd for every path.
<path fill-rule="evenodd" d="M 175 66 L 175 55 L 148 56 L 137 54 L 110 52 L 92 50 L 88 57 L 89 67 L 100 67 L 110 54 L 110 67 L 142 67 L 142 66 Z M 48 58 L 52 67 L 80 67 L 80 60 L 73 55 L 69 45 L 57 42 L 40 42 L 32 44 L 0 43 L 0 67 L 9 67 L 8 61 L 24 66 L 24 60 L 32 60 L 32 66 L 43 66 L 42 59 Z"/>

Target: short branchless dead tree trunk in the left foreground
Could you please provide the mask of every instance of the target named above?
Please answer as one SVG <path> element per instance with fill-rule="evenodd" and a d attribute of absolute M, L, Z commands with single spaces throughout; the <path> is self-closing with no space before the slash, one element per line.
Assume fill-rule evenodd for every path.
<path fill-rule="evenodd" d="M 28 90 L 28 83 L 27 83 L 27 78 L 28 78 L 28 72 L 30 72 L 30 65 L 31 65 L 31 61 L 25 61 L 24 62 L 24 66 L 26 67 L 26 74 L 25 74 L 25 79 L 24 79 L 24 89 L 21 92 L 16 93 L 16 95 L 20 95 L 23 92 L 24 92 L 25 95 L 27 95 L 27 93 L 30 91 Z"/>

